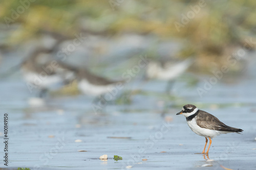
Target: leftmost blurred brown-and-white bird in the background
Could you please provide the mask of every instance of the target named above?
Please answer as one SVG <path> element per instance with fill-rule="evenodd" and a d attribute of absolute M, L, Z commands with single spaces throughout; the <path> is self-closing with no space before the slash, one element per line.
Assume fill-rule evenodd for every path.
<path fill-rule="evenodd" d="M 60 87 L 74 80 L 76 69 L 54 60 L 53 50 L 40 48 L 35 50 L 21 64 L 21 69 L 30 92 L 39 90 L 39 97 L 45 95 L 51 87 Z"/>

